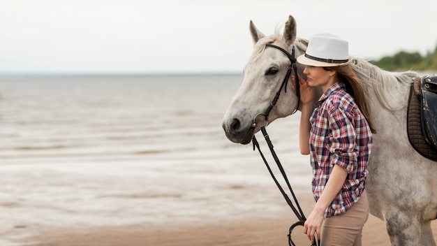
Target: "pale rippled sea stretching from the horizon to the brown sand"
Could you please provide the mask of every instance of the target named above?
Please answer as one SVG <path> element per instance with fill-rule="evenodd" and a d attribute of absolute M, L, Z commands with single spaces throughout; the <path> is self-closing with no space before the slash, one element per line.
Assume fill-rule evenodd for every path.
<path fill-rule="evenodd" d="M 31 245 L 50 228 L 292 217 L 258 152 L 231 143 L 221 127 L 242 81 L 0 76 L 0 245 Z M 267 131 L 296 194 L 311 196 L 298 127 L 299 113 Z"/>

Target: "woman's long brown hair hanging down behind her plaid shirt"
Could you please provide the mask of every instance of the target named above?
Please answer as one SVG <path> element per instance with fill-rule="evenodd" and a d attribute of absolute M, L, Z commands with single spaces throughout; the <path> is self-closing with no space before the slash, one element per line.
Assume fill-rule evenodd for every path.
<path fill-rule="evenodd" d="M 346 66 L 330 66 L 323 67 L 327 71 L 336 71 L 340 82 L 346 85 L 346 92 L 348 92 L 355 99 L 358 108 L 367 120 L 372 133 L 376 133 L 373 119 L 371 118 L 369 103 L 367 103 L 364 89 L 362 87 L 362 80 L 353 71 L 352 67 Z"/>

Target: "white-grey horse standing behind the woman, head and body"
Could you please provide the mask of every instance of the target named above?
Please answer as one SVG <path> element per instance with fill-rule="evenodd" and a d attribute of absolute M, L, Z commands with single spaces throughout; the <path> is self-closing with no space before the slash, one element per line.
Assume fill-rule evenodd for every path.
<path fill-rule="evenodd" d="M 250 31 L 254 50 L 244 68 L 242 86 L 223 118 L 226 136 L 242 144 L 250 143 L 253 134 L 265 126 L 264 117 L 256 116 L 265 113 L 290 66 L 290 59 L 283 52 L 266 45 L 274 44 L 290 53 L 294 48 L 295 57 L 302 55 L 308 45 L 302 38 L 296 40 L 296 22 L 291 15 L 282 35 L 276 31 L 265 36 L 253 22 Z M 365 82 L 378 131 L 373 134 L 366 182 L 370 212 L 385 222 L 392 245 L 436 245 L 431 220 L 437 219 L 437 162 L 417 153 L 406 132 L 409 88 L 418 75 L 412 71 L 383 71 L 358 58 L 353 59 L 352 66 Z M 297 64 L 299 76 L 306 79 L 303 68 Z M 320 88 L 316 91 L 318 96 L 322 94 Z M 269 122 L 292 114 L 299 100 L 292 92 L 290 78 L 287 92 L 282 92 L 269 113 Z"/>

